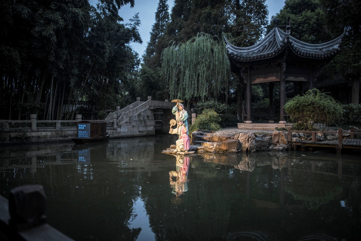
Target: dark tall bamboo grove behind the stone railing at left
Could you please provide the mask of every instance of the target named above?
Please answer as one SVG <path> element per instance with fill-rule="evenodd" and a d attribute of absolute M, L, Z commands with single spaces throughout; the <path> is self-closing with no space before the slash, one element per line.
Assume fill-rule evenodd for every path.
<path fill-rule="evenodd" d="M 138 16 L 118 15 L 130 1 L 4 0 L 0 40 L 0 119 L 85 118 L 114 108 L 139 65 Z M 98 110 L 98 111 L 95 111 Z"/>

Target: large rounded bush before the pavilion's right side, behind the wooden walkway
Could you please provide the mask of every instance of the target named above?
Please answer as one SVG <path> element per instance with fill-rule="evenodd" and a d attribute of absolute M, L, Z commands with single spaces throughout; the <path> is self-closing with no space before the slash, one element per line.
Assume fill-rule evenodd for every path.
<path fill-rule="evenodd" d="M 335 124 L 342 118 L 343 108 L 326 93 L 310 89 L 304 96 L 295 96 L 284 105 L 296 130 L 316 130 L 314 124 Z"/>

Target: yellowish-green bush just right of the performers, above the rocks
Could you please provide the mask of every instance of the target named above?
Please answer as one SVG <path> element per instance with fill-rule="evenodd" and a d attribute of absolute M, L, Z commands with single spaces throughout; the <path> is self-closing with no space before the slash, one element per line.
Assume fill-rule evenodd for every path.
<path fill-rule="evenodd" d="M 221 118 L 219 114 L 211 109 L 203 110 L 202 114 L 198 115 L 190 126 L 190 133 L 197 130 L 206 130 L 206 131 L 217 131 L 221 129 L 219 122 Z"/>

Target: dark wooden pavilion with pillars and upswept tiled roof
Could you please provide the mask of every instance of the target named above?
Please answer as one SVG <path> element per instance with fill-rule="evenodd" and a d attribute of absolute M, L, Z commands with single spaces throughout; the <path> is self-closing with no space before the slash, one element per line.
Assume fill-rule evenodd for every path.
<path fill-rule="evenodd" d="M 247 84 L 245 95 L 246 120 L 252 123 L 251 84 L 269 83 L 269 122 L 273 123 L 274 82 L 280 84 L 280 124 L 286 123 L 284 104 L 286 104 L 286 82 L 293 82 L 295 94 L 303 95 L 304 83 L 313 88 L 313 82 L 321 73 L 322 66 L 329 63 L 339 52 L 343 38 L 322 44 L 308 44 L 293 38 L 290 33 L 290 18 L 286 32 L 278 28 L 279 19 L 274 19 L 274 28 L 260 42 L 250 47 L 236 47 L 224 37 L 227 55 L 233 73 L 240 73 Z"/>

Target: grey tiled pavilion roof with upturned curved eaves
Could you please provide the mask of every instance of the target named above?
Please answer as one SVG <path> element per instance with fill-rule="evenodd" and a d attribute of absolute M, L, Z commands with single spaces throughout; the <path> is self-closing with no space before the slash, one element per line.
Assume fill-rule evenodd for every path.
<path fill-rule="evenodd" d="M 240 62 L 250 62 L 272 58 L 280 54 L 287 46 L 300 57 L 325 59 L 333 57 L 339 50 L 342 35 L 322 44 L 308 44 L 290 35 L 290 25 L 287 23 L 286 32 L 278 28 L 279 20 L 274 20 L 274 28 L 260 42 L 250 47 L 236 47 L 229 43 L 225 36 L 227 55 Z"/>

